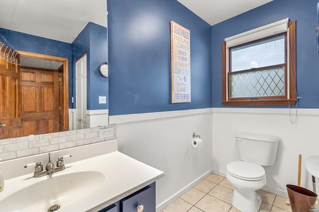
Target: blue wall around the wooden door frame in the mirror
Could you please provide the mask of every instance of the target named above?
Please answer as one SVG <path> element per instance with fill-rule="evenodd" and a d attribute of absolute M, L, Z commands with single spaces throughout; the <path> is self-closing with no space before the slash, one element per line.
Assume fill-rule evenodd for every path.
<path fill-rule="evenodd" d="M 0 40 L 15 50 L 68 58 L 69 88 L 72 88 L 72 52 L 70 43 L 60 42 L 2 28 L 0 28 Z M 71 97 L 72 89 L 69 89 L 70 108 L 72 108 Z"/>

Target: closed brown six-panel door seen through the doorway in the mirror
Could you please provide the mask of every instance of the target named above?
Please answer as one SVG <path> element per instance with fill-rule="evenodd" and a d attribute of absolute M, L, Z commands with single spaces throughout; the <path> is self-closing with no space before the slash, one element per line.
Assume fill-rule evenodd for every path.
<path fill-rule="evenodd" d="M 21 67 L 25 135 L 60 131 L 59 71 Z"/>

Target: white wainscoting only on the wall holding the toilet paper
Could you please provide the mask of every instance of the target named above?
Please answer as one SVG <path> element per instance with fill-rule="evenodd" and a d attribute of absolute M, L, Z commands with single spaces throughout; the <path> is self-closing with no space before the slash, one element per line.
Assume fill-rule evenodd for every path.
<path fill-rule="evenodd" d="M 110 116 L 118 149 L 160 169 L 157 211 L 212 173 L 212 108 Z M 191 146 L 195 132 L 201 148 Z M 137 170 L 138 171 L 138 170 Z"/>

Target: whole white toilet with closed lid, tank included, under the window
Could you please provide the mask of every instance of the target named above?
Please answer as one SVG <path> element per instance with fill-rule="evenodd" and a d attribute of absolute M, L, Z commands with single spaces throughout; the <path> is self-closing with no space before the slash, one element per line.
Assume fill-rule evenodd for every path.
<path fill-rule="evenodd" d="M 258 212 L 262 200 L 256 190 L 266 185 L 262 166 L 274 165 L 280 138 L 237 132 L 235 140 L 240 161 L 229 163 L 226 172 L 227 180 L 235 187 L 232 205 L 241 212 Z"/>

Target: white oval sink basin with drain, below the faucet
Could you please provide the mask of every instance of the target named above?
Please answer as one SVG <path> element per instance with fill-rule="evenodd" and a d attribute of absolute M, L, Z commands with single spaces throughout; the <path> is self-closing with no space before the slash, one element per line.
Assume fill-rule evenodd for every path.
<path fill-rule="evenodd" d="M 65 172 L 65 173 L 63 173 Z M 96 171 L 55 173 L 9 195 L 0 203 L 5 212 L 47 212 L 52 205 L 61 209 L 88 197 L 101 187 L 105 176 Z M 39 179 L 40 179 L 39 178 Z M 30 179 L 25 179 L 25 181 Z"/>

